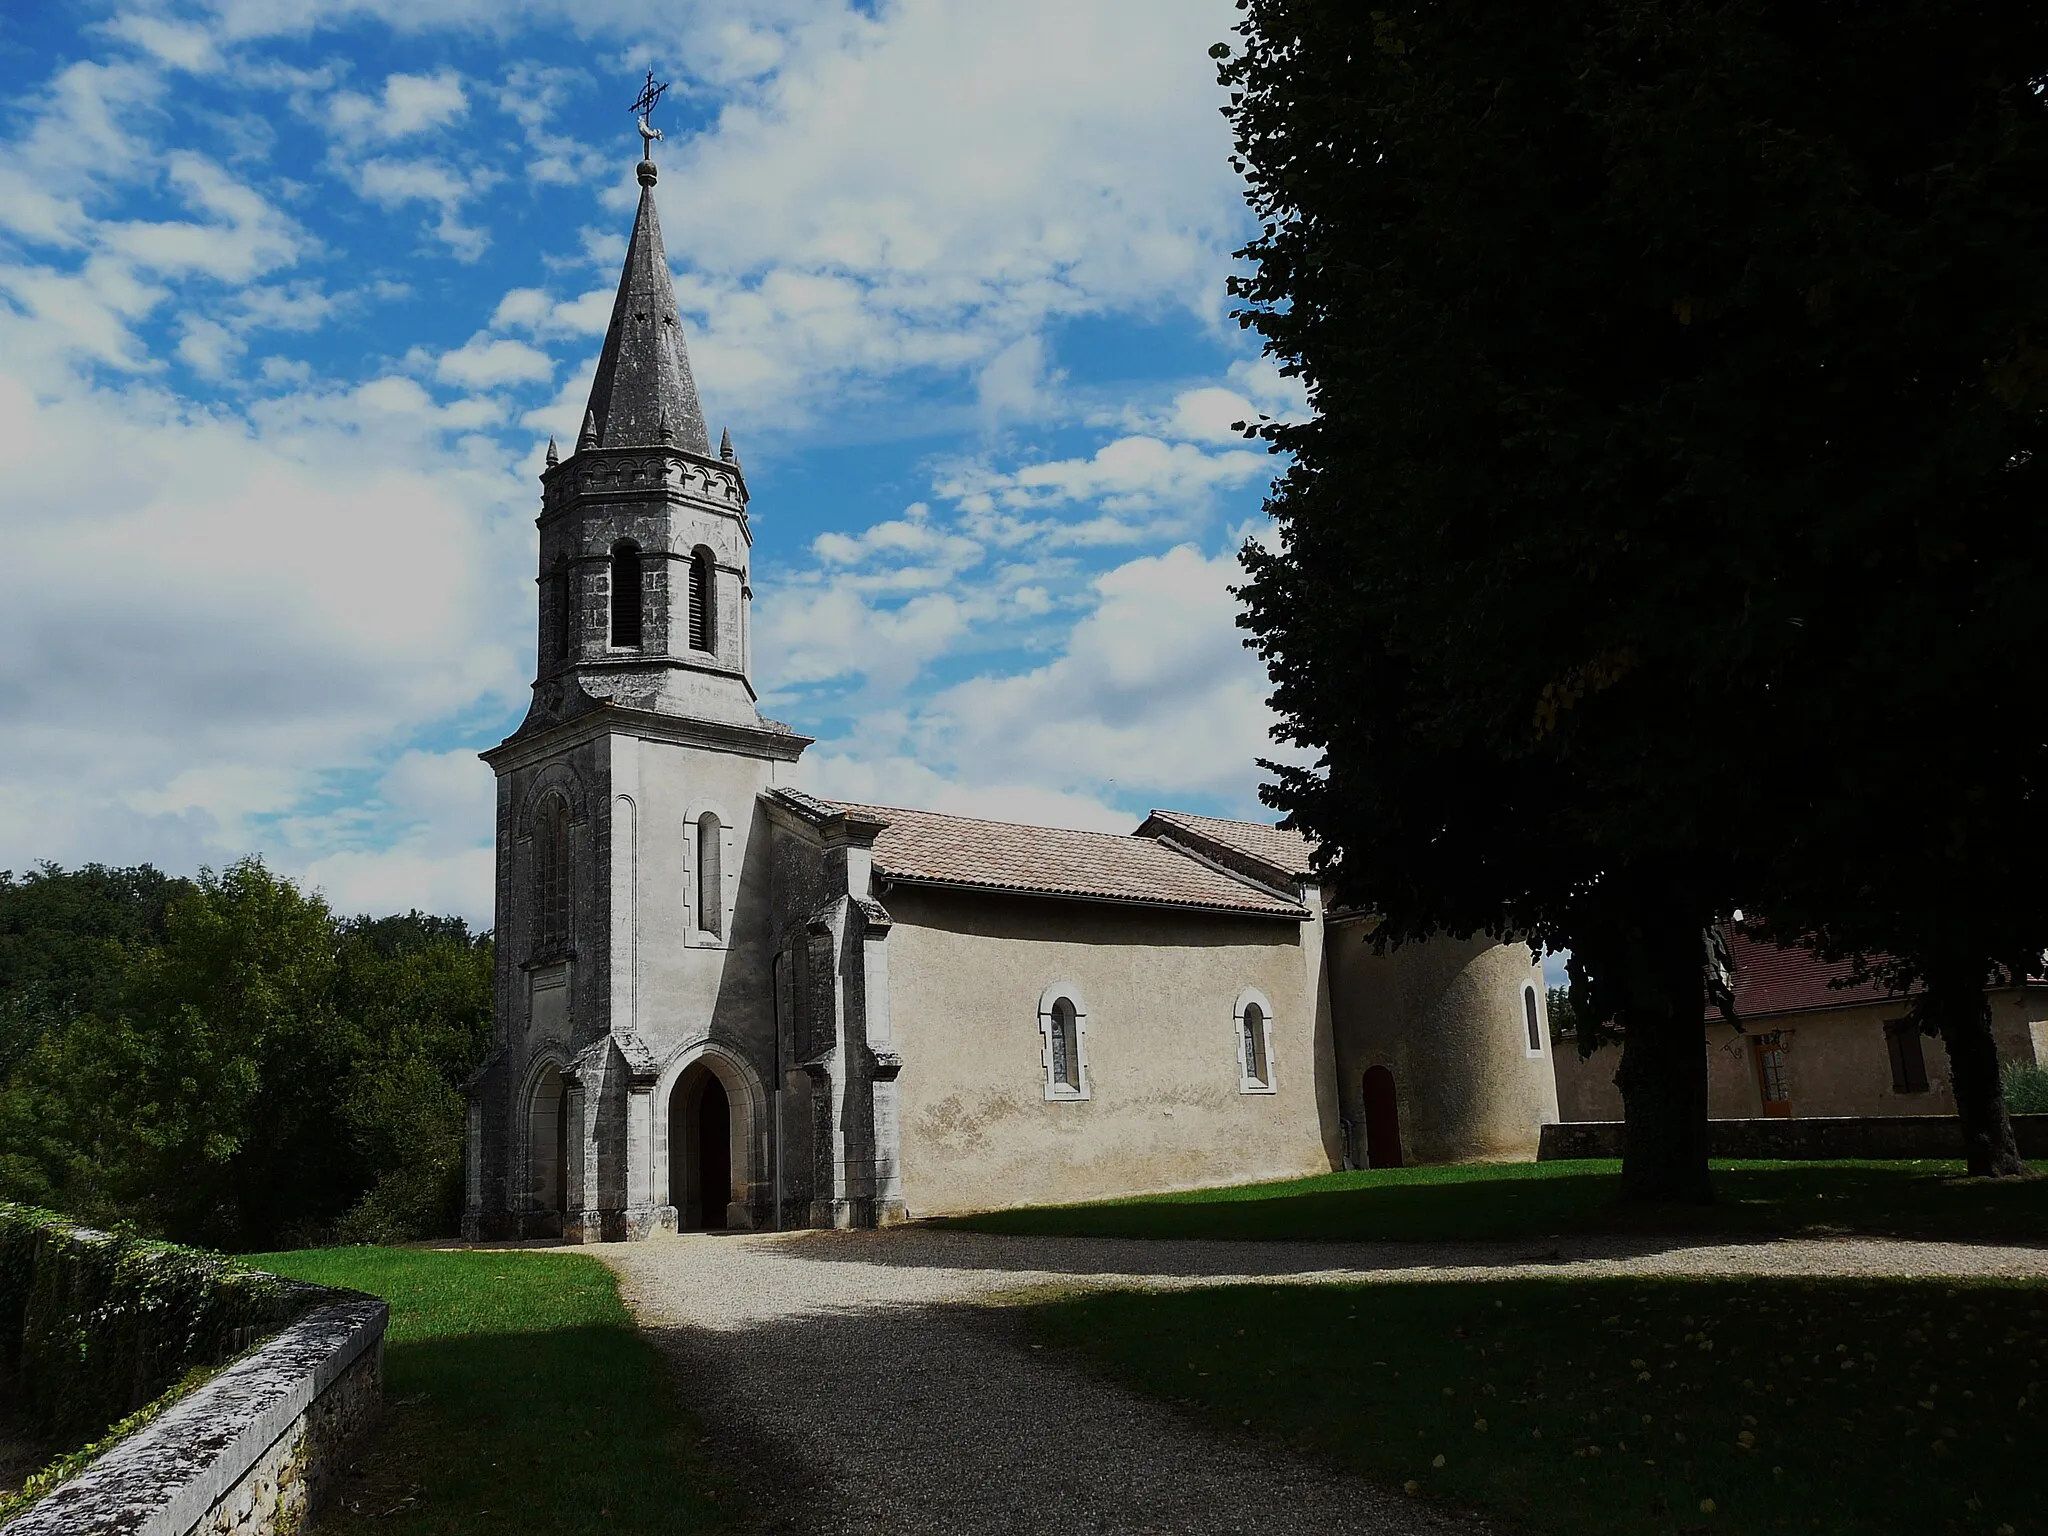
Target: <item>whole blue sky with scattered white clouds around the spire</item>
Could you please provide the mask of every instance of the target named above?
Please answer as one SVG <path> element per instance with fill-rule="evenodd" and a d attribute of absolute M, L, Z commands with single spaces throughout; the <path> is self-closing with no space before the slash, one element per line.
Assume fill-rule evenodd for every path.
<path fill-rule="evenodd" d="M 1229 0 L 0 12 L 0 868 L 242 852 L 489 920 L 535 471 L 647 68 L 756 686 L 827 795 L 1257 815 Z"/>

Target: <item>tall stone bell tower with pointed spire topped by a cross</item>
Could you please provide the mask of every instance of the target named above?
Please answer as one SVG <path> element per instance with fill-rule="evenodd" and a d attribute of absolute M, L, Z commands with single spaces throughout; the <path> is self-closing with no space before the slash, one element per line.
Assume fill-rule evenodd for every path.
<path fill-rule="evenodd" d="M 649 76 L 649 150 L 657 98 Z M 473 1235 L 750 1225 L 774 1188 L 758 797 L 809 739 L 756 709 L 748 481 L 731 436 L 711 449 L 653 160 L 637 174 L 582 432 L 541 473 L 532 705 L 483 754 L 498 1049 L 469 1083 Z"/>

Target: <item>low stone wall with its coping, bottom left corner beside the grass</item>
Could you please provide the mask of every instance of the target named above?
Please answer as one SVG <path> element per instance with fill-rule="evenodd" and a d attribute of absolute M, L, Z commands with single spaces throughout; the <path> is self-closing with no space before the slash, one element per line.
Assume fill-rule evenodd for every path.
<path fill-rule="evenodd" d="M 377 1415 L 389 1309 L 324 1292 L 299 1321 L 174 1403 L 6 1536 L 285 1536 Z"/>

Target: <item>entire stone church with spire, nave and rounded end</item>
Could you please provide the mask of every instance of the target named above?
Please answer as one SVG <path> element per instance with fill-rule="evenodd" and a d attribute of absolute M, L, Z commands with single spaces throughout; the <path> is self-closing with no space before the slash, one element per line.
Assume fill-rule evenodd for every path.
<path fill-rule="evenodd" d="M 690 377 L 655 166 L 575 451 L 541 475 L 532 707 L 498 774 L 471 1237 L 866 1227 L 1530 1157 L 1522 944 L 1374 956 L 1307 844 L 825 801 L 756 709 L 748 481 Z"/>

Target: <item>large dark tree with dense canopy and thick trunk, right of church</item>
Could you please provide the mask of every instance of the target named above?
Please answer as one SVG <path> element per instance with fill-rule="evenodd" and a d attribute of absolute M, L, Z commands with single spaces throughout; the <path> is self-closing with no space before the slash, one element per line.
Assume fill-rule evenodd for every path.
<path fill-rule="evenodd" d="M 1571 948 L 1626 1188 L 1706 1196 L 1702 930 L 1776 893 L 1905 952 L 1888 846 L 1958 799 L 2032 827 L 2048 18 L 1245 10 L 1241 319 L 1315 408 L 1257 428 L 1247 625 L 1319 756 L 1270 801 L 1391 942 Z"/>

